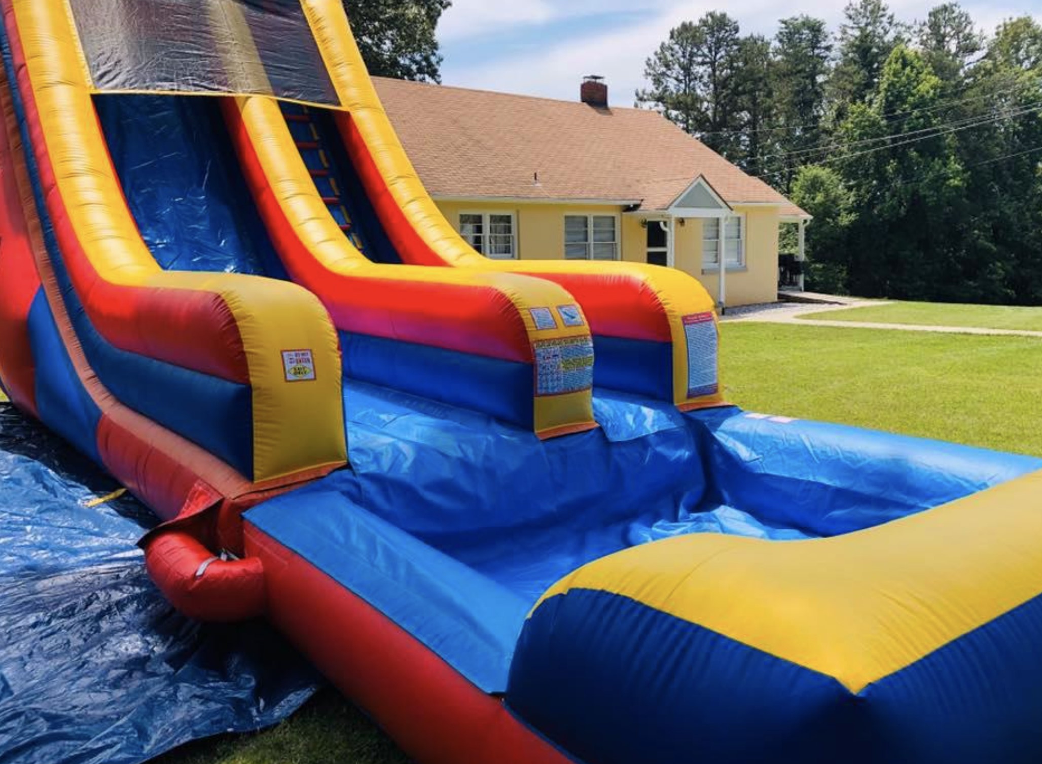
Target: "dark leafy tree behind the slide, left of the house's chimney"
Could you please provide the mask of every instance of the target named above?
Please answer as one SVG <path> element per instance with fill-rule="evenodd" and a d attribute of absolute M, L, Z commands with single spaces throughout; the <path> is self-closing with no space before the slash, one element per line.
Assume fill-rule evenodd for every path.
<path fill-rule="evenodd" d="M 370 74 L 441 81 L 435 30 L 451 0 L 345 0 L 354 38 Z"/>

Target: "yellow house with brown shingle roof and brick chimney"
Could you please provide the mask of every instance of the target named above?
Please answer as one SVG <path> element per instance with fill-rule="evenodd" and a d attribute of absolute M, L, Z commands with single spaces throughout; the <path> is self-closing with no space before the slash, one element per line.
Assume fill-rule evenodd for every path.
<path fill-rule="evenodd" d="M 721 305 L 777 299 L 779 226 L 802 242 L 810 216 L 658 113 L 609 107 L 599 78 L 575 102 L 375 82 L 430 195 L 487 256 L 651 263 Z"/>

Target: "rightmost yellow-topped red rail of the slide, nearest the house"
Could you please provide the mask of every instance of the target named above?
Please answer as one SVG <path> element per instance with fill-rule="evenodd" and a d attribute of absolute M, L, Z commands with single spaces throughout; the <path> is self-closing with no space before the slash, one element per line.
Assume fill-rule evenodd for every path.
<path fill-rule="evenodd" d="M 410 162 L 362 59 L 341 3 L 302 0 L 319 50 L 345 112 L 337 120 L 345 145 L 383 227 L 408 263 L 537 276 L 578 300 L 595 337 L 672 346 L 672 402 L 684 409 L 723 403 L 722 386 L 689 395 L 685 317 L 712 314 L 713 299 L 680 271 L 637 263 L 490 261 L 452 228 Z"/>

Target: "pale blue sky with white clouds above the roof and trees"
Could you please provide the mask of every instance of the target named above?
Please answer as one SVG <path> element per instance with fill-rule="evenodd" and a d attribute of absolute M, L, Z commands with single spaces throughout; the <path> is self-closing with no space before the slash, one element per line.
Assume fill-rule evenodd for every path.
<path fill-rule="evenodd" d="M 893 0 L 903 21 L 941 0 Z M 577 98 L 586 74 L 609 79 L 612 103 L 631 106 L 644 60 L 681 21 L 713 9 L 738 19 L 743 33 L 773 34 L 778 18 L 810 14 L 838 26 L 844 2 L 768 0 L 453 0 L 439 27 L 445 84 Z M 963 2 L 987 30 L 1013 16 L 1042 15 L 1042 0 Z M 784 8 L 784 9 L 782 9 Z"/>

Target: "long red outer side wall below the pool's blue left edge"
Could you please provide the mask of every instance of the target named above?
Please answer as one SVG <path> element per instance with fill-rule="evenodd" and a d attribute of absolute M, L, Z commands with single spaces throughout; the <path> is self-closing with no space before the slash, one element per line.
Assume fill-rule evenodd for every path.
<path fill-rule="evenodd" d="M 249 522 L 268 617 L 419 764 L 574 764 L 425 645 Z"/>

